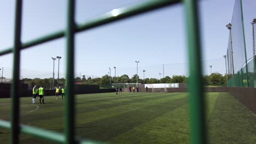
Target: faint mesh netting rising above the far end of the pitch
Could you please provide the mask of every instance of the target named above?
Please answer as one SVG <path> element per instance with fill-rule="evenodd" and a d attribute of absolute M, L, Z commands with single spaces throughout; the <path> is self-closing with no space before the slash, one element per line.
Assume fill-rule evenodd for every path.
<path fill-rule="evenodd" d="M 211 72 L 212 73 L 220 73 L 225 74 L 225 59 L 223 57 L 220 58 L 214 58 L 214 59 L 206 59 L 202 61 L 204 70 L 203 75 L 210 75 L 210 68 L 209 65 L 212 65 Z M 150 64 L 150 63 L 149 63 Z M 7 79 L 11 79 L 11 75 L 13 73 L 12 68 L 3 68 L 3 76 Z M 103 68 L 102 68 L 103 69 Z M 143 73 L 143 70 L 144 71 Z M 107 70 L 105 70 L 107 71 Z M 86 84 L 90 83 L 99 83 L 100 79 L 104 75 L 93 75 L 88 74 L 90 71 L 77 71 L 74 75 L 74 79 L 79 80 L 86 80 Z M 92 73 L 92 72 L 91 72 Z M 129 79 L 125 79 L 124 75 L 129 75 Z M 134 75 L 136 74 L 136 67 L 118 67 L 117 66 L 117 75 L 115 79 L 115 83 L 136 83 L 136 77 Z M 109 74 L 106 74 L 109 76 Z M 144 79 L 157 79 L 157 82 L 160 82 L 159 80 L 168 76 L 173 77 L 174 75 L 180 75 L 188 77 L 188 63 L 181 62 L 181 63 L 164 63 L 164 64 L 158 64 L 158 65 L 147 65 L 147 66 L 138 66 L 138 82 L 143 83 Z M 65 79 L 66 74 L 63 72 L 59 73 L 59 79 Z M 114 83 L 114 70 L 111 71 L 111 80 L 112 83 Z M 21 69 L 20 70 L 20 79 L 51 79 L 53 78 L 53 71 L 47 71 L 47 70 L 29 70 L 29 69 Z M 54 72 L 54 79 L 57 80 L 58 78 L 58 72 L 55 70 Z M 108 87 L 108 86 L 107 86 Z"/>

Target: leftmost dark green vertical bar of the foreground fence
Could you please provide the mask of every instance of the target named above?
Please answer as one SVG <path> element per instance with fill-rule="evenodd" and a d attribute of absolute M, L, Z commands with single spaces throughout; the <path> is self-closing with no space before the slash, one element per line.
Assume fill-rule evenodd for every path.
<path fill-rule="evenodd" d="M 13 47 L 13 82 L 11 85 L 11 143 L 19 143 L 20 123 L 20 50 L 21 50 L 21 13 L 22 0 L 16 0 L 15 24 L 14 24 L 14 47 Z"/>

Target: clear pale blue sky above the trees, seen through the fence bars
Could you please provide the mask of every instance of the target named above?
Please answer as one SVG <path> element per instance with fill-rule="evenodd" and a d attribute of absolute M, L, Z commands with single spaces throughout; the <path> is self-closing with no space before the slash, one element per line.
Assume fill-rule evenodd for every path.
<path fill-rule="evenodd" d="M 76 4 L 77 23 L 106 13 L 115 8 L 141 3 L 139 0 L 80 0 Z M 13 45 L 14 0 L 0 2 L 0 50 Z M 225 73 L 223 55 L 228 45 L 228 30 L 225 25 L 231 21 L 234 0 L 200 1 L 200 25 L 202 34 L 203 73 Z M 24 1 L 22 13 L 22 42 L 63 29 L 66 26 L 66 1 L 44 0 Z M 182 4 L 156 10 L 110 25 L 78 33 L 75 36 L 75 73 L 79 75 L 102 76 L 108 74 L 108 67 L 117 67 L 117 75 L 136 74 L 159 78 L 162 64 L 165 76 L 188 75 L 187 43 L 185 37 L 184 8 Z M 52 77 L 53 60 L 61 56 L 60 74 L 65 74 L 65 39 L 59 39 L 34 46 L 21 53 L 21 76 Z M 211 60 L 215 59 L 215 60 Z M 211 60 L 211 61 L 209 61 Z M 12 55 L 0 57 L 3 76 L 11 77 Z M 57 71 L 57 63 L 55 63 Z M 2 73 L 2 71 L 1 71 Z M 162 76 L 162 75 L 161 75 Z M 55 75 L 56 77 L 56 75 Z"/>

